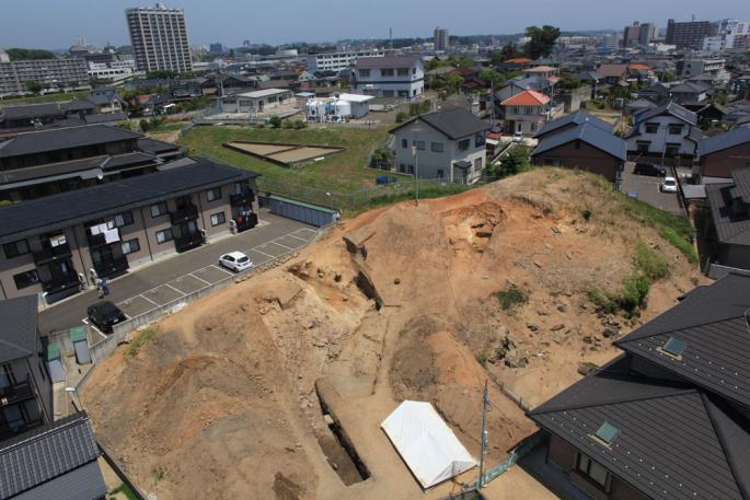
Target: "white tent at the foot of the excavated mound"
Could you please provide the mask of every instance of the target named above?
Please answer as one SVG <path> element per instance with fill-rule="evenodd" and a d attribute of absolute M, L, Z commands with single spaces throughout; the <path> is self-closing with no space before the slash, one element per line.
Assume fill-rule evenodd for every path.
<path fill-rule="evenodd" d="M 380 427 L 425 489 L 476 465 L 429 403 L 405 400 Z"/>

